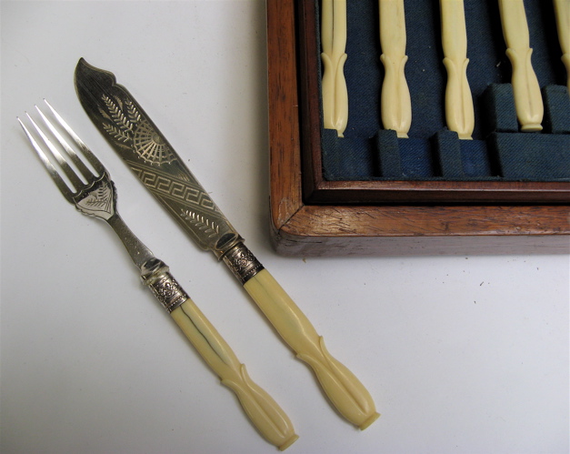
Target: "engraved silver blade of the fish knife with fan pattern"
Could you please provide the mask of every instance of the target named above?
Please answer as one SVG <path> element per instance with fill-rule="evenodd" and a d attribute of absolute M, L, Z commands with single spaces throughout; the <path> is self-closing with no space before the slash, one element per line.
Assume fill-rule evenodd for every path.
<path fill-rule="evenodd" d="M 221 257 L 241 240 L 204 187 L 115 76 L 80 59 L 77 96 L 95 126 L 196 243 Z"/>

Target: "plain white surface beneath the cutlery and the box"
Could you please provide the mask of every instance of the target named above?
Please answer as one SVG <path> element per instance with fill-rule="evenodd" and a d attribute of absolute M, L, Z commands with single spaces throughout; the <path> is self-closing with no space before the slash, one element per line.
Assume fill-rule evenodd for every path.
<path fill-rule="evenodd" d="M 275 452 L 139 284 L 113 231 L 61 197 L 15 117 L 45 97 L 105 163 L 126 223 L 292 419 L 293 453 L 567 453 L 568 256 L 285 258 L 269 245 L 265 2 L 2 1 L 0 450 Z M 115 73 L 369 389 L 341 419 L 215 257 L 95 130 L 79 57 Z"/>

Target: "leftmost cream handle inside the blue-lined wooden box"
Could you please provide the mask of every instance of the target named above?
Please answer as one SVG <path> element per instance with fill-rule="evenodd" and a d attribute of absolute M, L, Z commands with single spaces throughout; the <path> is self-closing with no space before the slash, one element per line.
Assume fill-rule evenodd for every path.
<path fill-rule="evenodd" d="M 343 137 L 348 124 L 348 90 L 344 73 L 346 0 L 323 0 L 321 16 L 323 122 L 325 129 L 336 129 L 337 135 Z"/>

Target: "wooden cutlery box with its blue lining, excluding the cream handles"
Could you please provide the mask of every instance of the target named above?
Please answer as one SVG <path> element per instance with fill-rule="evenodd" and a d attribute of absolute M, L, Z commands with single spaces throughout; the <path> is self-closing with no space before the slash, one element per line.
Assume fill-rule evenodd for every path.
<path fill-rule="evenodd" d="M 518 130 L 496 4 L 465 0 L 475 130 L 473 140 L 459 140 L 445 127 L 438 2 L 405 2 L 413 120 L 409 138 L 396 138 L 382 130 L 377 108 L 384 76 L 377 0 L 349 1 L 350 112 L 339 138 L 322 121 L 320 3 L 267 0 L 271 227 L 279 254 L 570 252 L 570 96 L 552 3 L 525 1 L 529 17 L 536 12 L 528 8 L 545 10 L 528 25 L 545 99 L 539 133 Z"/>

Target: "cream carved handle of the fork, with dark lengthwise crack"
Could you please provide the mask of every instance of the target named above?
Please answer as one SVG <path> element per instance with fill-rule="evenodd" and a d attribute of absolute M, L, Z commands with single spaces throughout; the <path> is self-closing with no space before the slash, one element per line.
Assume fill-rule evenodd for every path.
<path fill-rule="evenodd" d="M 281 450 L 291 446 L 298 437 L 285 411 L 249 378 L 245 365 L 239 362 L 194 302 L 186 299 L 170 315 L 208 366 L 221 378 L 222 384 L 235 392 L 261 435 Z"/>

